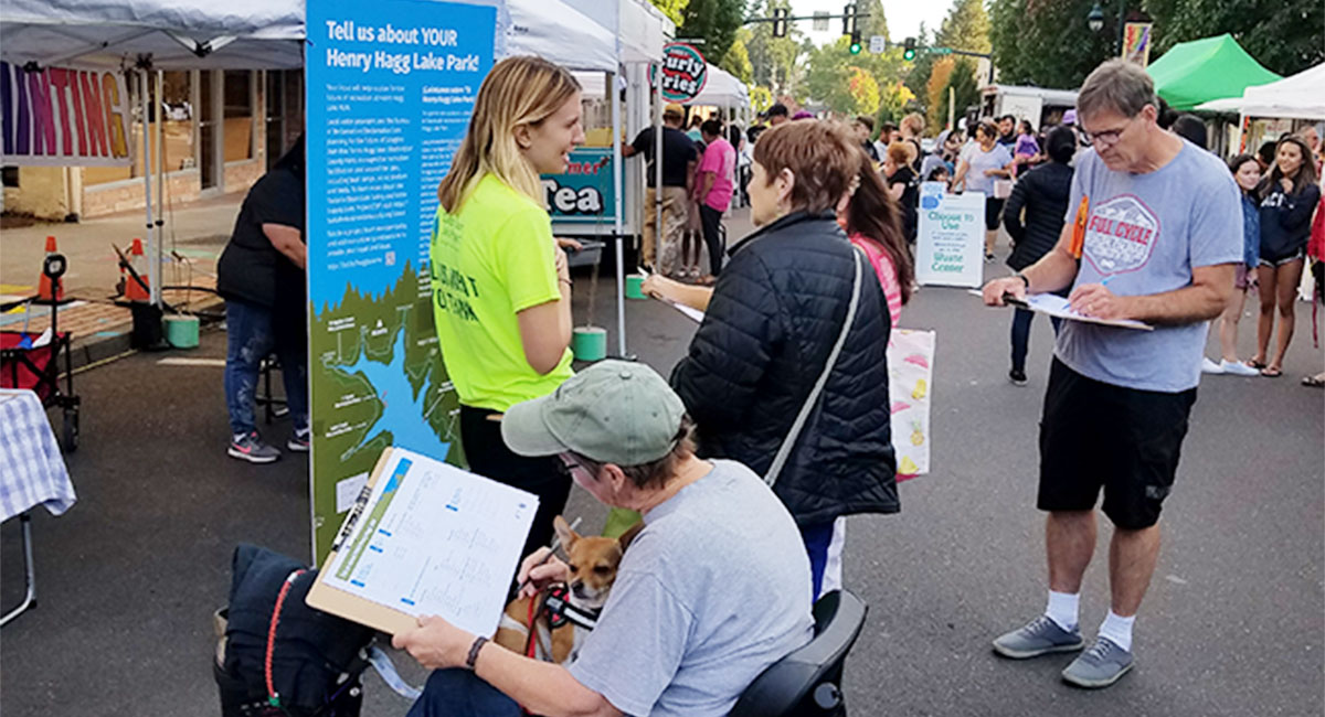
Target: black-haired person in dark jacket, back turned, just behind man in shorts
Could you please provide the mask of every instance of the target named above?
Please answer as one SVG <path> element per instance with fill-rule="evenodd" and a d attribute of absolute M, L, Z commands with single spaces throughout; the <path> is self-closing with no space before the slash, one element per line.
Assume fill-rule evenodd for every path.
<path fill-rule="evenodd" d="M 1022 175 L 1003 206 L 1003 228 L 1012 237 L 1007 266 L 1014 271 L 1031 266 L 1053 249 L 1068 212 L 1068 194 L 1072 192 L 1072 167 L 1068 163 L 1076 152 L 1076 134 L 1071 127 L 1055 127 L 1044 144 L 1049 161 Z M 1035 312 L 1022 307 L 1012 314 L 1012 369 L 1007 372 L 1007 378 L 1018 386 L 1026 385 L 1026 353 L 1034 317 Z M 1057 333 L 1059 319 L 1051 321 Z"/>

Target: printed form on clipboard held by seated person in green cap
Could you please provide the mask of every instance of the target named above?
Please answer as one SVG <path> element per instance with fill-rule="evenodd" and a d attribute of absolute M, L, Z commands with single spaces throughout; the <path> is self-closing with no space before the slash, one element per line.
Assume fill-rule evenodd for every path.
<path fill-rule="evenodd" d="M 387 448 L 307 603 L 390 634 L 439 615 L 492 635 L 537 511 L 533 493 Z"/>

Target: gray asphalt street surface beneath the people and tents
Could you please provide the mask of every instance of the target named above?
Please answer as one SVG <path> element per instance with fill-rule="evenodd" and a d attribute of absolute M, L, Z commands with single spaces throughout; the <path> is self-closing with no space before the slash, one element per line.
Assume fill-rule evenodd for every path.
<path fill-rule="evenodd" d="M 612 283 L 598 288 L 604 316 Z M 694 324 L 655 302 L 628 308 L 629 351 L 666 373 Z M 1044 607 L 1034 493 L 1049 324 L 1036 320 L 1031 381 L 1018 388 L 1006 380 L 1010 314 L 965 290 L 917 294 L 901 324 L 938 332 L 934 470 L 901 487 L 900 515 L 848 523 L 845 582 L 869 603 L 847 663 L 851 712 L 1321 714 L 1325 393 L 1297 384 L 1322 364 L 1310 308 L 1298 308 L 1285 377 L 1203 381 L 1137 620 L 1137 668 L 1108 691 L 1084 692 L 1059 681 L 1071 656 L 1011 663 L 990 651 L 994 636 Z M 1248 316 L 1244 355 L 1253 325 Z M 196 351 L 134 355 L 77 376 L 83 435 L 68 463 L 80 500 L 62 517 L 34 517 L 38 606 L 0 632 L 7 717 L 219 713 L 211 612 L 227 598 L 231 552 L 248 541 L 309 553 L 306 463 L 227 458 L 221 368 L 160 364 L 221 358 L 224 344 L 211 331 Z M 284 443 L 289 425 L 261 429 Z M 567 512 L 587 528 L 604 515 L 578 489 Z M 1101 533 L 1083 597 L 1088 636 L 1108 607 Z M 21 595 L 17 546 L 9 521 L 0 529 L 5 606 Z M 407 656 L 398 663 L 421 681 Z M 407 706 L 368 677 L 366 716 Z"/>

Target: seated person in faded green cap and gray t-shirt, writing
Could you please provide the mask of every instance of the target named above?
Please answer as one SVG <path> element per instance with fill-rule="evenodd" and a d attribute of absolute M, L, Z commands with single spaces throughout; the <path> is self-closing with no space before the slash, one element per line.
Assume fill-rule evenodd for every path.
<path fill-rule="evenodd" d="M 625 361 L 599 362 L 506 411 L 511 451 L 559 455 L 594 497 L 643 513 L 644 529 L 568 668 L 441 618 L 396 635 L 392 644 L 435 668 L 409 717 L 515 717 L 521 705 L 546 716 L 721 716 L 810 642 L 810 562 L 791 515 L 745 466 L 696 458 L 690 433 L 666 381 Z M 521 566 L 527 593 L 567 577 L 546 556 Z"/>

